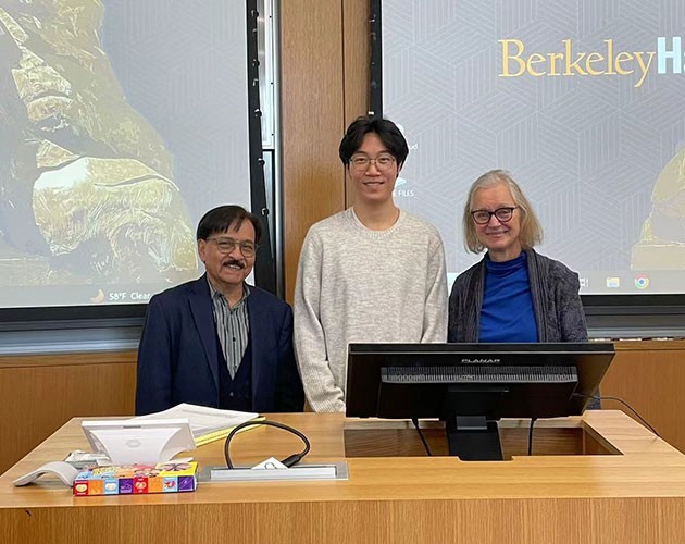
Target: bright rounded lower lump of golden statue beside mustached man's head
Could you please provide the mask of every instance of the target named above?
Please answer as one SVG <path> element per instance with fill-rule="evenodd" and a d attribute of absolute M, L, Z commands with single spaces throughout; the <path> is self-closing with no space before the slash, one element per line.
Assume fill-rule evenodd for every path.
<path fill-rule="evenodd" d="M 59 260 L 88 262 L 117 282 L 184 280 L 195 271 L 192 232 L 175 185 L 141 162 L 82 158 L 34 187 L 40 232 Z M 179 220 L 180 219 L 180 220 Z"/>

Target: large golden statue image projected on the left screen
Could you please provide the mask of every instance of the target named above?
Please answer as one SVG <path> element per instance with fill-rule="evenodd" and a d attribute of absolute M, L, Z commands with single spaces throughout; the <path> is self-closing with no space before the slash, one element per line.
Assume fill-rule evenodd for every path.
<path fill-rule="evenodd" d="M 173 157 L 104 53 L 99 0 L 0 0 L 0 284 L 197 275 Z"/>

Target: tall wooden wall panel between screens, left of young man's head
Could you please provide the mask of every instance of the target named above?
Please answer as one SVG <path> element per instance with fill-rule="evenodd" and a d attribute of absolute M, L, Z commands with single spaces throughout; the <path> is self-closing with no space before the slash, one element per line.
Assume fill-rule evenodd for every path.
<path fill-rule="evenodd" d="M 281 113 L 285 284 L 292 301 L 307 231 L 345 208 L 337 152 L 345 131 L 339 1 L 281 3 Z"/>

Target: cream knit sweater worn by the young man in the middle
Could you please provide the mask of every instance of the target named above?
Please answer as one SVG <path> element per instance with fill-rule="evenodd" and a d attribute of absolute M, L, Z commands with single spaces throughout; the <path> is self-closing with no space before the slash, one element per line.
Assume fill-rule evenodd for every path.
<path fill-rule="evenodd" d="M 400 211 L 370 231 L 352 209 L 314 224 L 295 289 L 295 351 L 310 406 L 344 411 L 350 343 L 446 342 L 447 274 L 436 228 Z"/>

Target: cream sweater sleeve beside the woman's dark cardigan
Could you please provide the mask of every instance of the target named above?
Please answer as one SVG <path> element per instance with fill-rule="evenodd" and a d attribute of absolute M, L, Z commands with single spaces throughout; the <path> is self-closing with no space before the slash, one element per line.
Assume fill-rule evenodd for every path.
<path fill-rule="evenodd" d="M 447 341 L 447 270 L 445 247 L 437 231 L 434 231 L 428 244 L 426 287 L 421 342 L 443 343 Z"/>

